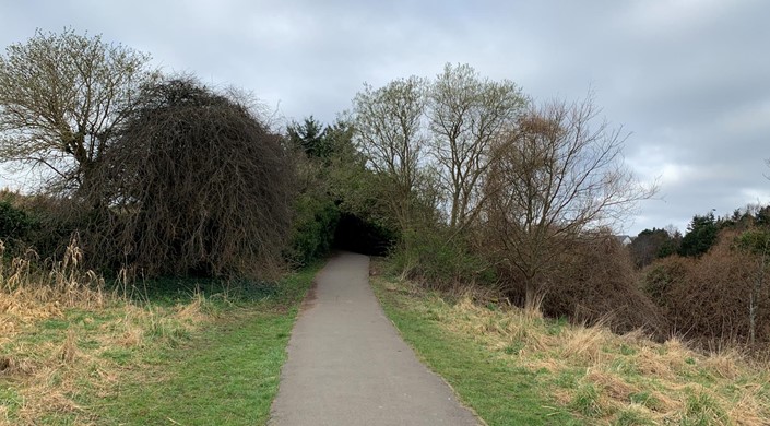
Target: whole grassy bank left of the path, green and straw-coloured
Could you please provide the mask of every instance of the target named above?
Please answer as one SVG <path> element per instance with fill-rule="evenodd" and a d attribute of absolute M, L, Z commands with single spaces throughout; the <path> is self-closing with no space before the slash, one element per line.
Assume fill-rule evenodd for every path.
<path fill-rule="evenodd" d="M 270 285 L 146 283 L 134 297 L 5 281 L 0 424 L 264 424 L 317 270 Z"/>

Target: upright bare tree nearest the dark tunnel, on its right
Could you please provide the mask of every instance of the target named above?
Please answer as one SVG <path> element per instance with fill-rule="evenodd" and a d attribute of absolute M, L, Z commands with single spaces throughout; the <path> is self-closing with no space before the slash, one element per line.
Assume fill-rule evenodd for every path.
<path fill-rule="evenodd" d="M 381 88 L 365 85 L 353 99 L 354 142 L 367 165 L 383 179 L 383 200 L 401 230 L 414 221 L 420 185 L 425 82 L 416 76 L 394 80 Z"/>

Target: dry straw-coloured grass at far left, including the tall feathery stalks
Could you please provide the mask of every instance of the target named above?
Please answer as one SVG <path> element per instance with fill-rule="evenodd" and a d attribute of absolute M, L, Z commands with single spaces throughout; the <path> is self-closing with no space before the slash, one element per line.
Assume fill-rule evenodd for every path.
<path fill-rule="evenodd" d="M 0 392 L 17 397 L 0 404 L 0 425 L 51 417 L 93 424 L 88 407 L 76 403 L 85 389 L 110 394 L 121 374 L 139 368 L 132 354 L 179 339 L 209 318 L 200 294 L 190 304 L 158 308 L 105 292 L 97 274 L 82 270 L 82 256 L 73 241 L 60 261 L 0 263 Z"/>

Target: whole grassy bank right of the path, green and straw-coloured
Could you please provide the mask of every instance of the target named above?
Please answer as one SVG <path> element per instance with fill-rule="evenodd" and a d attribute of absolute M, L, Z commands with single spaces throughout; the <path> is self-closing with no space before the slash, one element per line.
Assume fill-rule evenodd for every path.
<path fill-rule="evenodd" d="M 770 372 L 737 352 L 613 334 L 372 277 L 419 356 L 489 425 L 767 425 Z"/>

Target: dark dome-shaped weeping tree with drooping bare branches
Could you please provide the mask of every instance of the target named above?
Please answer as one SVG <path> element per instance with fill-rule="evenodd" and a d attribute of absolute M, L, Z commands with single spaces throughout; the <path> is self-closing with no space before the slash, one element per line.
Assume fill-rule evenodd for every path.
<path fill-rule="evenodd" d="M 104 153 L 99 247 L 149 274 L 264 275 L 292 221 L 280 135 L 240 97 L 192 79 L 147 87 Z"/>

